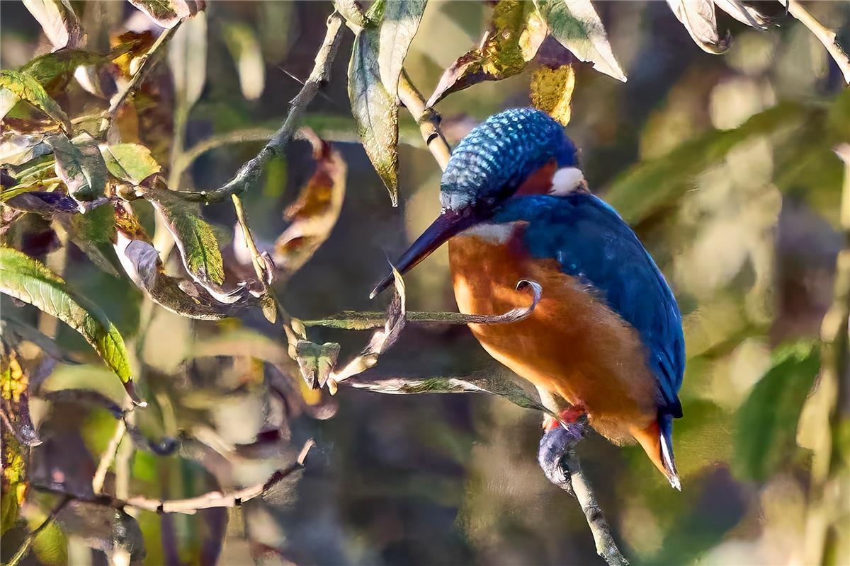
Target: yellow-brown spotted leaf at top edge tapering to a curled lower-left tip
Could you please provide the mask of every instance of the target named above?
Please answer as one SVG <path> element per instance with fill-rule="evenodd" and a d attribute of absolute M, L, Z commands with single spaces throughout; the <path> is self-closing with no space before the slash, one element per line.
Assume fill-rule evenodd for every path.
<path fill-rule="evenodd" d="M 501 81 L 518 74 L 534 59 L 546 35 L 546 24 L 534 4 L 500 0 L 493 8 L 490 31 L 484 42 L 445 70 L 428 98 L 428 106 L 481 81 Z"/>

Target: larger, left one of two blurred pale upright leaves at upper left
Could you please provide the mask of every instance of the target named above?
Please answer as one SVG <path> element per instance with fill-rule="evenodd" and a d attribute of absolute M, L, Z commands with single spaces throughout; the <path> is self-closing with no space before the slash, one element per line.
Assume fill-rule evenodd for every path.
<path fill-rule="evenodd" d="M 174 32 L 168 42 L 168 66 L 178 104 L 191 108 L 207 82 L 207 14 L 197 14 Z"/>

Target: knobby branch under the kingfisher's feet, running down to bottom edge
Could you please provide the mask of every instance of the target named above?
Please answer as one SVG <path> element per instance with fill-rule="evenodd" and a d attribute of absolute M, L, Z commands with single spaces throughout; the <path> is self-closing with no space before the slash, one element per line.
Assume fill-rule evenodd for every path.
<path fill-rule="evenodd" d="M 575 445 L 584 438 L 586 424 L 572 423 L 568 428 L 559 426 L 546 434 L 540 440 L 540 450 L 537 460 L 543 473 L 554 485 L 568 491 L 581 505 L 581 511 L 587 518 L 593 541 L 596 542 L 596 552 L 609 566 L 628 566 L 628 560 L 623 558 L 611 527 L 596 500 L 596 493 L 581 471 L 581 464 L 575 456 Z"/>

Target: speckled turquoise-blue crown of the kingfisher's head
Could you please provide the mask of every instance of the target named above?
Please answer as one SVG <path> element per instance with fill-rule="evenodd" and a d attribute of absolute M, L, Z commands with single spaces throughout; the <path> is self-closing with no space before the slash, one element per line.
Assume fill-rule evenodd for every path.
<path fill-rule="evenodd" d="M 575 165 L 575 145 L 545 112 L 513 108 L 492 115 L 451 153 L 440 183 L 443 205 L 493 203 L 553 158 L 561 167 Z"/>

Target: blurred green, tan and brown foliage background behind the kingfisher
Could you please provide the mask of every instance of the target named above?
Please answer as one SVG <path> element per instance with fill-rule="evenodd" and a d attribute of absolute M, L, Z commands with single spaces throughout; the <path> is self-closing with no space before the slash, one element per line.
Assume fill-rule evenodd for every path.
<path fill-rule="evenodd" d="M 655 256 L 677 294 L 687 342 L 684 418 L 675 434 L 682 493 L 637 447 L 591 436 L 579 450 L 632 563 L 797 564 L 807 556 L 805 527 L 817 504 L 809 470 L 823 408 L 808 395 L 815 376 L 805 360 L 832 302 L 836 254 L 845 244 L 840 200 L 842 183 L 850 181 L 833 150 L 850 141 L 850 91 L 822 45 L 775 4 L 763 6 L 781 24 L 769 31 L 718 14 L 734 44 L 711 55 L 694 45 L 666 3 L 598 2 L 629 80 L 575 64 L 568 132 L 585 176 Z M 125 3 L 73 5 L 90 43 L 108 47 L 110 36 L 150 26 Z M 850 45 L 850 5 L 806 6 Z M 297 79 L 309 75 L 331 9 L 322 2 L 209 3 L 205 53 L 195 48 L 187 59 L 206 77 L 184 147 L 278 125 L 300 88 Z M 405 63 L 417 87 L 430 92 L 478 42 L 490 9 L 429 3 Z M 23 5 L 0 3 L 0 17 L 4 69 L 48 51 Z M 387 257 L 439 213 L 439 167 L 404 109 L 398 208 L 357 143 L 345 84 L 351 41 L 349 33 L 331 83 L 306 119 L 342 152 L 348 182 L 330 238 L 282 293 L 287 309 L 305 319 L 380 310 L 368 293 Z M 446 98 L 437 109 L 450 143 L 498 110 L 529 104 L 529 83 L 526 72 Z M 87 104 L 88 96 L 72 83 L 61 102 Z M 133 104 L 144 142 L 161 164 L 173 163 L 167 65 Z M 232 143 L 202 154 L 179 188 L 220 186 L 260 147 Z M 312 167 L 307 144 L 293 142 L 246 194 L 259 239 L 271 242 L 280 233 L 282 211 Z M 141 214 L 150 221 L 150 211 Z M 226 242 L 232 210 L 211 206 L 205 215 Z M 167 457 L 123 441 L 108 486 L 118 479 L 128 481 L 129 493 L 177 498 L 248 485 L 291 461 L 307 438 L 317 443 L 306 471 L 264 501 L 191 517 L 137 513 L 144 563 L 600 563 L 581 510 L 537 466 L 539 413 L 489 395 L 379 395 L 343 387 L 329 398 L 287 375 L 285 339 L 258 313 L 192 322 L 151 308 L 126 278 L 99 271 L 77 249 L 56 254 L 46 256 L 48 265 L 61 266 L 96 299 L 138 354 L 152 400 L 139 412 L 139 427 L 151 438 L 182 439 Z M 447 266 L 442 249 L 405 277 L 411 310 L 455 310 Z M 4 310 L 17 308 L 3 301 Z M 86 386 L 120 399 L 120 385 L 88 346 L 62 325 L 56 332 L 88 363 L 55 367 L 40 387 Z M 368 336 L 317 329 L 310 335 L 339 341 L 343 358 Z M 789 349 L 802 352 L 803 361 L 775 369 Z M 501 371 L 458 327 L 407 328 L 379 367 L 422 376 Z M 846 391 L 846 368 L 841 378 Z M 842 400 L 845 414 L 847 406 Z M 110 413 L 37 399 L 31 408 L 47 439 L 33 454 L 32 474 L 61 468 L 69 480 L 90 483 L 115 430 Z M 834 455 L 842 466 L 847 453 L 845 445 Z M 847 494 L 846 482 L 830 493 L 843 509 L 830 518 L 830 563 L 850 563 Z M 51 502 L 31 496 L 24 509 L 31 526 Z M 60 517 L 26 563 L 105 563 L 115 535 L 97 517 L 93 509 Z M 3 536 L 4 560 L 24 535 L 16 529 Z"/>

